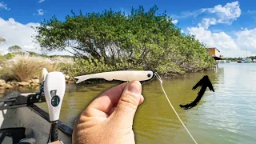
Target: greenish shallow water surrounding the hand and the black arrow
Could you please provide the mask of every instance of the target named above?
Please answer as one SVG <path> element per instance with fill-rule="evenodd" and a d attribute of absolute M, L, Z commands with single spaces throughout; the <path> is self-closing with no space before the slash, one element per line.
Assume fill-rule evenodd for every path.
<path fill-rule="evenodd" d="M 208 74 L 215 92 L 206 90 L 198 106 L 181 110 L 196 98 L 192 87 Z M 219 64 L 217 71 L 164 79 L 163 86 L 174 108 L 198 143 L 256 142 L 256 63 Z M 193 143 L 170 108 L 158 81 L 142 86 L 145 101 L 134 118 L 136 143 Z M 60 120 L 72 127 L 74 119 L 112 84 L 67 86 Z M 33 90 L 21 90 L 32 92 Z M 6 91 L 8 93 L 8 91 Z M 47 110 L 46 103 L 38 105 Z"/>

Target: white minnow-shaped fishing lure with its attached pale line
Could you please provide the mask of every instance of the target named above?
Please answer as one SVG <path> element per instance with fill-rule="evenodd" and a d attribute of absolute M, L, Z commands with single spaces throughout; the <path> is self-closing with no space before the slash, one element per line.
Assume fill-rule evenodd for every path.
<path fill-rule="evenodd" d="M 78 77 L 74 77 L 74 78 L 78 79 L 78 81 L 76 83 L 85 81 L 85 80 L 90 79 L 90 78 L 104 78 L 107 81 L 119 80 L 119 81 L 125 81 L 125 82 L 128 81 L 128 82 L 130 82 L 130 81 L 146 81 L 146 80 L 149 80 L 151 78 L 153 79 L 153 76 L 157 77 L 158 80 L 160 81 L 160 85 L 162 87 L 162 91 L 166 95 L 167 101 L 169 102 L 171 108 L 174 110 L 174 113 L 177 115 L 179 121 L 182 122 L 182 119 L 179 118 L 178 113 L 174 109 L 174 106 L 172 106 L 172 104 L 170 103 L 170 100 L 169 100 L 165 90 L 163 89 L 161 77 L 157 73 L 153 73 L 150 70 L 110 71 L 110 72 L 103 72 L 103 73 L 98 73 L 98 74 L 82 75 L 82 76 L 78 76 Z M 182 122 L 182 125 L 186 129 L 187 133 L 190 134 L 190 131 L 186 128 L 186 126 L 184 125 L 183 122 Z M 193 138 L 193 136 L 191 134 L 190 134 L 190 137 L 193 139 L 194 143 L 198 144 L 194 140 L 194 138 Z"/>

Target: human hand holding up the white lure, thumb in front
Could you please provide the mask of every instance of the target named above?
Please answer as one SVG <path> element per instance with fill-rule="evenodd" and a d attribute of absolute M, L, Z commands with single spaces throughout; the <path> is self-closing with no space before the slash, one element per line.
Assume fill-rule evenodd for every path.
<path fill-rule="evenodd" d="M 135 143 L 134 114 L 143 100 L 142 85 L 138 81 L 106 90 L 75 120 L 72 143 Z"/>

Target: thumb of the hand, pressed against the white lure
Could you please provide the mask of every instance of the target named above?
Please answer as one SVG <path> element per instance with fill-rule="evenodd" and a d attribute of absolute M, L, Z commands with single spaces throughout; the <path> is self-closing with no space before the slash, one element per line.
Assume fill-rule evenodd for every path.
<path fill-rule="evenodd" d="M 129 82 L 122 92 L 112 118 L 120 128 L 130 128 L 133 125 L 134 114 L 142 97 L 142 85 L 138 81 Z"/>

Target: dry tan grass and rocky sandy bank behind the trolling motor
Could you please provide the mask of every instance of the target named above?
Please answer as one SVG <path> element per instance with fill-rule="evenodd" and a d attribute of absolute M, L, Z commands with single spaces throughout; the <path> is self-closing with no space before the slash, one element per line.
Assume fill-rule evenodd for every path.
<path fill-rule="evenodd" d="M 70 58 L 42 56 L 22 56 L 19 54 L 0 55 L 0 89 L 10 89 L 16 86 L 38 86 L 39 74 L 42 68 L 48 72 L 60 71 L 59 63 L 71 63 Z M 70 77 L 66 75 L 67 82 Z"/>

